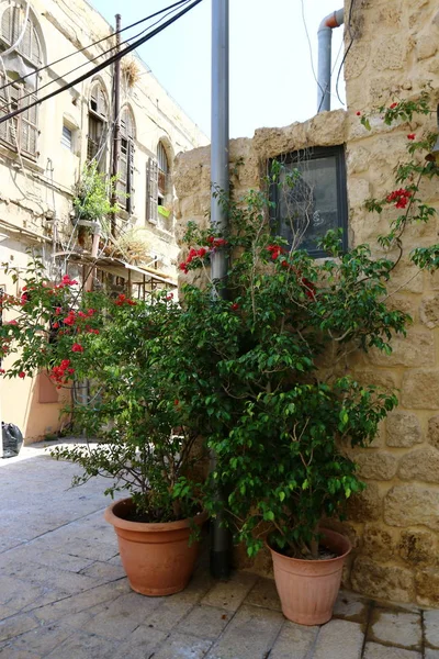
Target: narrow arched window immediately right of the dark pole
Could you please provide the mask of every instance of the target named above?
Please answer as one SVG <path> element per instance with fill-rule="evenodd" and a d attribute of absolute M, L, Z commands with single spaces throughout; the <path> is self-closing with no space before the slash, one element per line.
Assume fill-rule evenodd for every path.
<path fill-rule="evenodd" d="M 116 182 L 117 201 L 120 205 L 132 213 L 134 210 L 134 116 L 130 108 L 121 115 L 121 154 Z"/>

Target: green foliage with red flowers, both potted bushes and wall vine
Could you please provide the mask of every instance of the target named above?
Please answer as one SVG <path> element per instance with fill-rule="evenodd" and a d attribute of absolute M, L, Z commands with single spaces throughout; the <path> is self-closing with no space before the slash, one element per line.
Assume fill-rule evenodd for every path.
<path fill-rule="evenodd" d="M 401 101 L 384 116 L 425 113 L 424 101 Z M 407 138 L 412 156 L 432 141 Z M 60 387 L 90 380 L 88 404 L 77 401 L 72 412 L 98 447 L 57 453 L 83 468 L 78 481 L 109 476 L 110 494 L 127 489 L 147 518 L 160 521 L 201 507 L 223 513 L 219 487 L 228 524 L 250 556 L 267 529 L 288 554 L 314 555 L 322 518 L 342 515 L 363 488 L 349 448 L 368 445 L 397 404 L 393 392 L 351 377 L 350 357 L 371 348 L 390 354 L 410 322 L 386 299 L 405 227 L 435 212 L 419 181 L 436 171 L 419 163 L 398 165 L 401 187 L 367 202 L 384 215 L 392 206 L 403 211 L 390 214 L 382 258 L 368 245 L 342 252 L 335 231 L 320 242 L 328 257 L 314 260 L 271 235 L 263 191 L 228 201 L 215 189 L 230 228 L 188 225 L 180 270 L 200 277 L 183 284 L 181 305 L 165 295 L 144 303 L 81 293 L 69 278 L 53 287 L 41 265 L 31 269 L 26 299 L 3 300 L 19 310 L 16 324 L 0 328 L 4 351 L 18 351 L 7 376 L 46 368 Z M 267 185 L 279 185 L 281 174 L 274 163 Z M 399 256 L 387 258 L 394 247 Z M 210 278 L 218 252 L 228 261 L 227 282 Z M 419 247 L 412 259 L 434 270 L 438 246 Z M 198 437 L 217 458 L 206 483 L 195 478 Z"/>

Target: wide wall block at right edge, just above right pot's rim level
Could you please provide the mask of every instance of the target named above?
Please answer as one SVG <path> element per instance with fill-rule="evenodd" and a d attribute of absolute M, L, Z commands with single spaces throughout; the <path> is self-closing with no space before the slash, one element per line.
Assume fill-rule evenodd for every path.
<path fill-rule="evenodd" d="M 384 522 L 403 527 L 424 524 L 439 530 L 439 492 L 416 484 L 395 485 L 384 498 Z"/>

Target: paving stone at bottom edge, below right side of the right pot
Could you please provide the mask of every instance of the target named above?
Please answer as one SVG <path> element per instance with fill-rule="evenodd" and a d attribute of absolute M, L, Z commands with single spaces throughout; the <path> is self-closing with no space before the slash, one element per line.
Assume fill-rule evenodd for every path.
<path fill-rule="evenodd" d="M 320 627 L 313 659 L 360 659 L 362 646 L 361 625 L 333 619 Z"/>

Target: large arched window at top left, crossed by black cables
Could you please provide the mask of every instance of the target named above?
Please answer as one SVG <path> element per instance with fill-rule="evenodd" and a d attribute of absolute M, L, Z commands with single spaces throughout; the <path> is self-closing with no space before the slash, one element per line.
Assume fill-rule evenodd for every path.
<path fill-rule="evenodd" d="M 31 14 L 26 24 L 25 5 L 14 0 L 0 1 L 0 52 L 16 47 L 3 58 L 0 68 L 0 116 L 37 100 L 38 76 L 30 75 L 43 64 L 42 45 Z M 24 27 L 24 33 L 23 33 Z M 25 80 L 20 78 L 27 76 Z M 4 87 L 13 80 L 19 80 Z M 14 119 L 0 124 L 0 139 L 27 156 L 37 156 L 37 107 L 25 110 Z"/>

